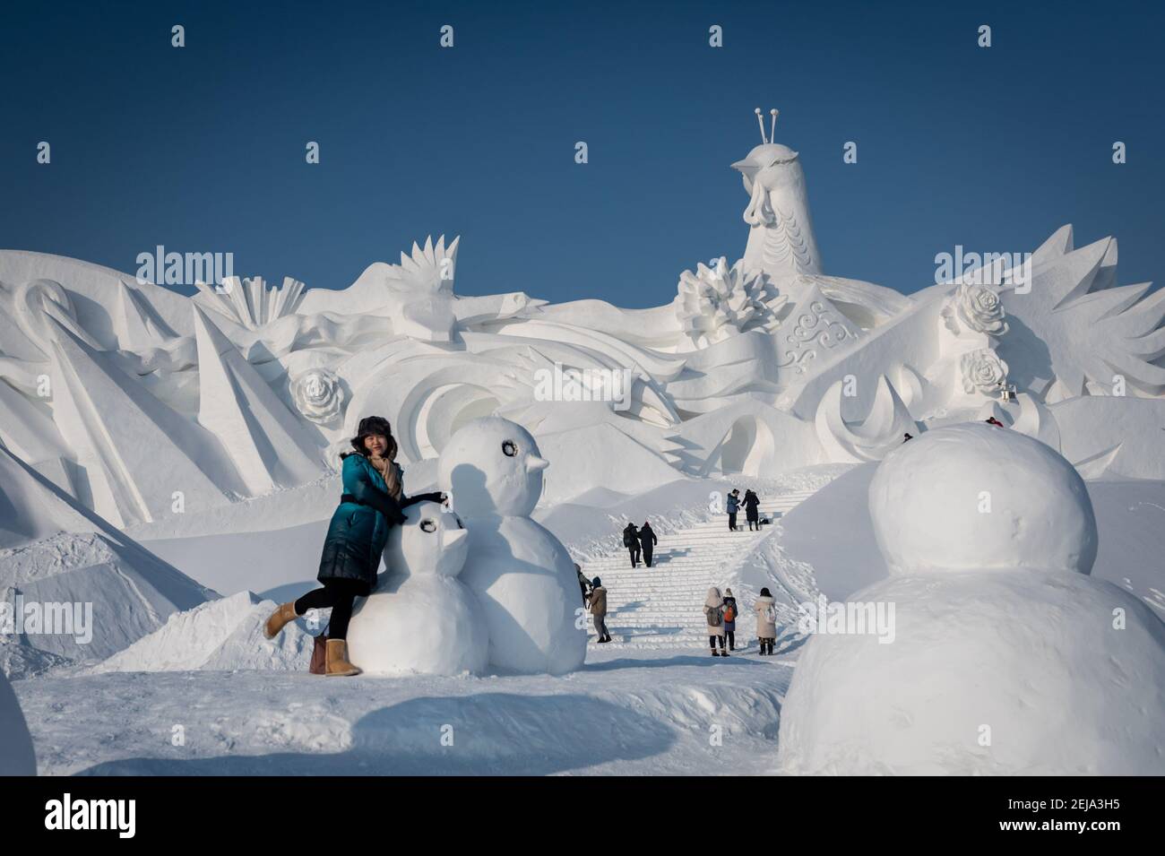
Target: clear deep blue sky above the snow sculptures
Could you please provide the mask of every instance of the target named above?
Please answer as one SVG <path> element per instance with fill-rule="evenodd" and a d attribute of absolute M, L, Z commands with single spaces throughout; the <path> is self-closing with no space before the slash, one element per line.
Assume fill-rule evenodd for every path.
<path fill-rule="evenodd" d="M 1073 222 L 1078 245 L 1118 238 L 1122 283 L 1159 281 L 1162 7 L 9 5 L 0 247 L 127 273 L 158 243 L 232 252 L 238 274 L 344 288 L 460 234 L 460 293 L 658 305 L 743 254 L 728 164 L 775 106 L 826 273 L 909 292 L 956 243 L 1030 250 Z"/>

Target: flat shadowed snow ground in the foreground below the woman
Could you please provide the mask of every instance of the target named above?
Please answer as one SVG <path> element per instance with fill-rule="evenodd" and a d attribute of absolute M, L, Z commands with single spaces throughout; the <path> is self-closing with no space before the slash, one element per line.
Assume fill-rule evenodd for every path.
<path fill-rule="evenodd" d="M 797 653 L 616 643 L 564 678 L 125 672 L 13 688 L 42 776 L 764 774 Z"/>

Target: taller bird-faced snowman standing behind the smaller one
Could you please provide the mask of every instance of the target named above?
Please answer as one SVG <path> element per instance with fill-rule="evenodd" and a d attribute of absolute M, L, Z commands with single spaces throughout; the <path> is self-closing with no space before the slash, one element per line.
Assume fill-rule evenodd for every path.
<path fill-rule="evenodd" d="M 574 564 L 530 519 L 546 466 L 530 432 L 501 417 L 466 423 L 438 461 L 440 488 L 469 531 L 461 579 L 481 602 L 489 662 L 525 674 L 565 674 L 586 659 Z"/>

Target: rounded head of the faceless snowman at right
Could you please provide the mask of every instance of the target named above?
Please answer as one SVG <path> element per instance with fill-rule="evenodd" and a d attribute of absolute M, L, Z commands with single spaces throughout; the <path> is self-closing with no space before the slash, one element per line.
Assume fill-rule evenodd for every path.
<path fill-rule="evenodd" d="M 986 423 L 927 431 L 888 454 L 870 515 L 891 574 L 974 568 L 1088 573 L 1083 479 L 1039 440 Z"/>

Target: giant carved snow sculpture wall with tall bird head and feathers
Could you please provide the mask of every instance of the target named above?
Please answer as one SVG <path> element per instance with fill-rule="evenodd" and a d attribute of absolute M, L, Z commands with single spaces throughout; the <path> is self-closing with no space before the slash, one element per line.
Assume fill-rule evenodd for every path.
<path fill-rule="evenodd" d="M 1117 285 L 1114 239 L 1074 249 L 1060 229 L 1022 291 L 986 268 L 909 297 L 831 276 L 770 116 L 733 164 L 743 254 L 683 271 L 652 309 L 458 296 L 443 238 L 343 290 L 232 280 L 192 298 L 2 252 L 0 441 L 116 525 L 317 480 L 363 412 L 391 419 L 405 462 L 478 417 L 518 422 L 555 461 L 551 500 L 876 460 L 987 416 L 1086 476 L 1165 477 L 1165 297 Z"/>

